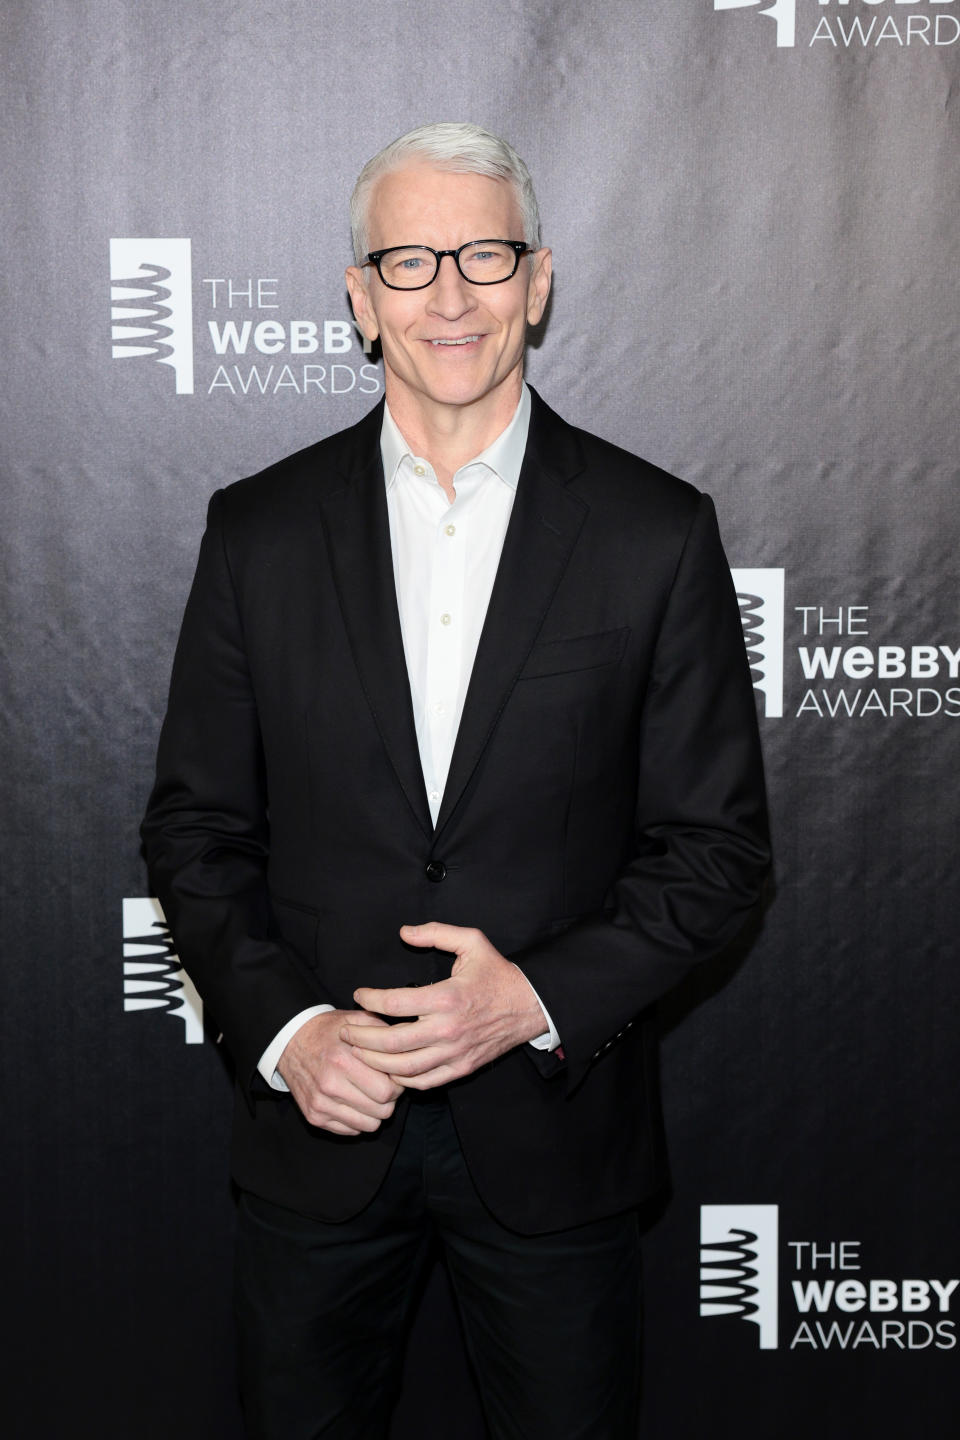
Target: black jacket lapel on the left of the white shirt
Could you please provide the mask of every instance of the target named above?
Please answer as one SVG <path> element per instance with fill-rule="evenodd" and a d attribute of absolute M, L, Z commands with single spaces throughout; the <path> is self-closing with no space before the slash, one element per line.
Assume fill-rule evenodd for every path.
<path fill-rule="evenodd" d="M 360 683 L 400 788 L 427 837 L 433 834 L 416 740 L 390 552 L 380 459 L 379 405 L 350 436 L 338 481 L 320 505 L 330 567 Z"/>

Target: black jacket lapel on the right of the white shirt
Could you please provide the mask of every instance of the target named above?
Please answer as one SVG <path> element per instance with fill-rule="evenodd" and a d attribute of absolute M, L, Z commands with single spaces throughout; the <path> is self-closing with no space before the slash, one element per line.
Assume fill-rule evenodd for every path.
<path fill-rule="evenodd" d="M 489 742 L 580 534 L 587 505 L 566 488 L 583 468 L 576 432 L 533 392 L 527 452 L 476 649 L 436 835 Z"/>

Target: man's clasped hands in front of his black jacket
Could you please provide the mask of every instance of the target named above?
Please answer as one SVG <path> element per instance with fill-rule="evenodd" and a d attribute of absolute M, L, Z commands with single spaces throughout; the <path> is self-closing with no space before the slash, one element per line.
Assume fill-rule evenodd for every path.
<path fill-rule="evenodd" d="M 420 949 L 455 956 L 449 979 L 400 989 L 354 991 L 357 1011 L 308 1020 L 281 1056 L 279 1073 L 307 1120 L 334 1135 L 376 1130 L 404 1089 L 432 1090 L 472 1074 L 545 1030 L 522 971 L 481 930 L 404 924 Z M 389 1025 L 381 1017 L 409 1017 Z"/>

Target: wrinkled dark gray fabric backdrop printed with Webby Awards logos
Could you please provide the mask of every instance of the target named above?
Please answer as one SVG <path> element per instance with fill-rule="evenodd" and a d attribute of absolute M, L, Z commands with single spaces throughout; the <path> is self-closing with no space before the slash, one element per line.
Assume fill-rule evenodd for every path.
<path fill-rule="evenodd" d="M 937 1433 L 960 3 L 10 0 L 1 24 L 6 1433 L 239 1436 L 229 1061 L 137 824 L 207 498 L 381 393 L 347 196 L 448 118 L 537 183 L 530 379 L 715 497 L 754 655 L 776 886 L 662 1007 L 645 1434 Z M 394 1433 L 481 1434 L 440 1273 Z"/>

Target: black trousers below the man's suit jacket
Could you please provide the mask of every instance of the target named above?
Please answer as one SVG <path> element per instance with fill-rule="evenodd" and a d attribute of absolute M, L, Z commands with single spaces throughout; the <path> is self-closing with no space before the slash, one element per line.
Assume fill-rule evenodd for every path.
<path fill-rule="evenodd" d="M 250 1440 L 381 1440 L 435 1237 L 492 1440 L 635 1440 L 633 1212 L 548 1236 L 479 1200 L 442 1094 L 416 1096 L 371 1204 L 325 1224 L 240 1198 L 236 1312 Z M 423 1417 L 423 1436 L 430 1417 Z"/>

